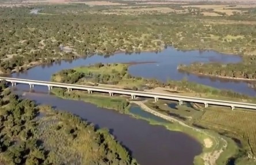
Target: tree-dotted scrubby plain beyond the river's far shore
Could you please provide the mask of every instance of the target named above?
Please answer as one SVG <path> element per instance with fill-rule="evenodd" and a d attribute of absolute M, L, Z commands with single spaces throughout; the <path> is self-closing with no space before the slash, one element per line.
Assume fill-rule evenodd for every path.
<path fill-rule="evenodd" d="M 159 51 L 166 46 L 242 55 L 256 52 L 253 6 L 241 9 L 223 5 L 220 9 L 228 10 L 219 11 L 219 8 L 209 9 L 212 2 L 200 2 L 201 7 L 182 3 L 146 6 L 128 1 L 120 3 L 128 5 L 90 7 L 79 3 L 1 7 L 0 24 L 5 25 L 0 27 L 1 73 L 18 72 L 63 58 L 109 56 L 120 51 Z M 30 14 L 30 9 L 39 8 L 43 9 L 39 11 L 41 14 Z M 135 9 L 142 12 L 135 12 Z M 230 10 L 236 13 L 221 14 Z M 130 14 L 122 14 L 123 11 Z M 224 16 L 203 16 L 204 12 Z M 59 47 L 61 45 L 63 48 Z"/>

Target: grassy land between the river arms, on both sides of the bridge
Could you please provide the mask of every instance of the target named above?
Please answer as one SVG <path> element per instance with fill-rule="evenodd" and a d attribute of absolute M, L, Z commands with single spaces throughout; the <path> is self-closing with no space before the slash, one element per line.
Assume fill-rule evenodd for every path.
<path fill-rule="evenodd" d="M 52 81 L 224 100 L 237 101 L 242 99 L 247 102 L 255 101 L 253 97 L 207 87 L 194 82 L 188 82 L 187 80 L 169 80 L 167 82 L 161 82 L 155 79 L 134 77 L 128 73 L 128 67 L 129 64 L 101 63 L 79 66 L 55 73 L 52 75 Z M 236 120 L 232 120 L 238 119 L 241 115 L 243 115 L 243 119 L 246 118 L 247 121 L 256 119 L 256 115 L 254 114 L 239 112 L 242 111 L 242 109 L 239 109 L 238 112 L 232 112 L 229 108 L 216 106 L 204 108 L 204 105 L 197 103 L 178 105 L 175 101 L 167 100 L 159 100 L 158 102 L 152 99 L 131 100 L 129 96 L 114 95 L 109 97 L 108 94 L 104 93 L 93 92 L 93 94 L 89 94 L 87 91 L 79 90 L 68 92 L 67 89 L 62 88 L 54 88 L 52 89 L 52 93 L 65 99 L 83 100 L 93 103 L 98 107 L 115 109 L 120 113 L 126 113 L 133 117 L 147 120 L 151 124 L 163 125 L 172 131 L 185 132 L 197 139 L 203 146 L 203 152 L 194 158 L 194 162 L 197 164 L 202 164 L 202 162 L 211 163 L 217 161 L 217 163 L 220 163 L 231 161 L 229 155 L 235 156 L 240 163 L 249 163 L 243 153 L 249 153 L 250 156 L 252 156 L 255 151 L 255 145 L 253 143 L 254 136 L 252 134 L 254 131 L 249 131 L 254 125 L 245 128 L 244 125 L 246 125 L 246 121 L 241 119 L 238 125 L 235 122 Z M 170 121 L 170 123 L 163 123 L 162 121 L 156 121 L 133 113 L 130 109 L 131 106 L 134 107 L 135 105 L 139 105 L 144 111 Z M 216 108 L 220 109 L 216 110 Z M 216 117 L 212 118 L 211 116 L 213 115 Z M 221 128 L 217 127 L 216 120 L 217 123 L 221 124 Z M 230 127 L 226 125 L 227 120 L 230 120 Z M 237 132 L 240 127 L 242 127 L 244 131 Z M 226 132 L 226 128 L 230 129 L 230 131 Z M 240 137 L 241 135 L 245 135 L 246 137 Z M 238 144 L 234 143 L 232 139 L 235 139 L 235 142 L 239 142 L 242 148 L 239 149 Z M 251 149 L 249 149 L 250 147 Z M 215 158 L 217 158 L 217 160 L 215 160 Z"/>

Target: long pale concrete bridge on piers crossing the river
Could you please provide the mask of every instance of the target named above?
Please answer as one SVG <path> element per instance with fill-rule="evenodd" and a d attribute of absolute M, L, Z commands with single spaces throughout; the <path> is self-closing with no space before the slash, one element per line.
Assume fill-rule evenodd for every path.
<path fill-rule="evenodd" d="M 26 80 L 20 78 L 9 78 L 9 77 L 0 77 L 0 81 L 5 80 L 6 82 L 10 82 L 12 86 L 16 86 L 16 84 L 28 84 L 30 89 L 34 88 L 34 85 L 41 85 L 48 87 L 50 91 L 53 87 L 58 88 L 66 88 L 68 91 L 72 91 L 72 89 L 78 89 L 82 91 L 88 91 L 88 93 L 92 92 L 104 92 L 109 93 L 109 96 L 113 96 L 114 94 L 119 95 L 129 95 L 132 99 L 135 99 L 136 96 L 153 98 L 155 101 L 158 99 L 166 99 L 166 100 L 177 100 L 179 101 L 179 105 L 182 105 L 183 101 L 190 103 L 202 103 L 205 105 L 205 108 L 211 105 L 221 105 L 231 107 L 231 109 L 238 108 L 247 108 L 247 109 L 256 109 L 256 104 L 250 103 L 242 103 L 235 101 L 224 101 L 224 100 L 215 100 L 215 99 L 202 99 L 199 97 L 188 97 L 188 96 L 179 96 L 179 95 L 167 95 L 162 93 L 152 93 L 152 92 L 141 92 L 141 91 L 132 91 L 125 89 L 114 89 L 114 88 L 102 88 L 102 87 L 92 87 L 87 85 L 75 85 L 75 84 L 64 84 L 59 82 L 48 82 L 48 81 L 36 81 L 36 80 Z"/>

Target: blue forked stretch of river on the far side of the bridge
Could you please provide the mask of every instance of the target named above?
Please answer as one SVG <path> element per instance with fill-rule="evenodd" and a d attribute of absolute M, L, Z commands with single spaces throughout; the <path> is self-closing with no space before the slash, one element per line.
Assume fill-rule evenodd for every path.
<path fill-rule="evenodd" d="M 29 69 L 24 73 L 14 73 L 13 77 L 48 81 L 50 80 L 51 75 L 59 70 L 74 68 L 75 66 L 95 64 L 97 62 L 113 63 L 147 61 L 155 63 L 131 65 L 129 66 L 129 73 L 131 73 L 133 76 L 156 78 L 162 81 L 167 81 L 169 79 L 182 80 L 182 78 L 186 77 L 189 81 L 198 82 L 211 87 L 229 89 L 246 95 L 256 96 L 256 91 L 248 87 L 248 82 L 196 76 L 194 74 L 181 73 L 177 70 L 177 66 L 179 64 L 190 64 L 195 61 L 219 61 L 224 63 L 234 63 L 241 60 L 242 58 L 240 56 L 220 54 L 213 51 L 200 52 L 194 50 L 182 52 L 169 47 L 157 54 L 154 52 L 143 52 L 140 54 L 133 53 L 129 55 L 125 53 L 117 53 L 110 57 L 95 55 L 88 58 L 79 58 L 73 61 L 61 61 L 54 64 L 36 66 L 35 68 Z"/>

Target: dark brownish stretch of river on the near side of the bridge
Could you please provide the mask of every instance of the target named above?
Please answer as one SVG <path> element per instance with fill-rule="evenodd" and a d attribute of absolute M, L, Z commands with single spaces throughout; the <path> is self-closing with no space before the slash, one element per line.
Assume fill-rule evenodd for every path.
<path fill-rule="evenodd" d="M 83 101 L 63 100 L 47 93 L 25 92 L 23 97 L 74 113 L 97 127 L 108 128 L 142 165 L 192 165 L 194 156 L 202 152 L 200 143 L 185 133 L 168 131 L 165 127 L 150 125 L 145 120 L 111 109 L 98 108 Z M 161 121 L 161 118 L 154 120 Z"/>

